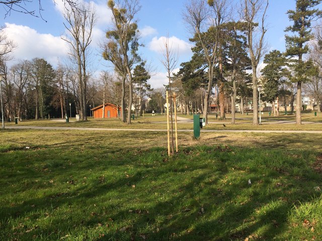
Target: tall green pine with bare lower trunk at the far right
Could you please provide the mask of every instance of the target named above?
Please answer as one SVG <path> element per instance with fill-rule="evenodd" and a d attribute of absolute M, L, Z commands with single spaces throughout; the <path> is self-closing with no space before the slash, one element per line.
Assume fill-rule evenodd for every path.
<path fill-rule="evenodd" d="M 322 15 L 315 6 L 321 0 L 297 0 L 296 8 L 287 12 L 288 18 L 293 21 L 293 25 L 285 29 L 285 32 L 292 32 L 294 35 L 285 35 L 286 55 L 290 57 L 291 69 L 293 71 L 292 82 L 297 83 L 296 94 L 296 124 L 301 125 L 302 107 L 302 83 L 309 80 L 312 63 L 304 61 L 303 55 L 309 52 L 308 41 L 313 38 L 311 33 L 311 22 L 317 20 Z M 294 57 L 296 59 L 294 59 Z"/>

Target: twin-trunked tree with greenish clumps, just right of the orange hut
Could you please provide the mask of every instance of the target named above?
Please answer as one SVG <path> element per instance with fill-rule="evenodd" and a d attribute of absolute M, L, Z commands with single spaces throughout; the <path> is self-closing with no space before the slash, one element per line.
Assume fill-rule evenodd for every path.
<path fill-rule="evenodd" d="M 141 9 L 139 0 L 108 1 L 112 11 L 112 27 L 106 33 L 108 42 L 104 47 L 103 57 L 110 61 L 116 72 L 122 76 L 122 121 L 125 122 L 125 79 L 129 82 L 129 97 L 127 107 L 127 124 L 131 124 L 131 109 L 133 101 L 132 67 L 140 62 L 137 54 L 139 47 L 139 32 L 135 16 Z"/>

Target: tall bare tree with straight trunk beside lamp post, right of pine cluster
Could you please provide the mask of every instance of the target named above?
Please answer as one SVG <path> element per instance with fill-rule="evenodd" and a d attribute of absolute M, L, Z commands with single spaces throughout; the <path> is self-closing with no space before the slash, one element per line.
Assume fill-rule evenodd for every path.
<path fill-rule="evenodd" d="M 253 72 L 253 125 L 258 126 L 257 66 L 264 55 L 264 36 L 268 0 L 243 0 L 240 7 L 240 18 L 247 24 L 246 34 Z M 260 22 L 260 23 L 257 23 Z"/>

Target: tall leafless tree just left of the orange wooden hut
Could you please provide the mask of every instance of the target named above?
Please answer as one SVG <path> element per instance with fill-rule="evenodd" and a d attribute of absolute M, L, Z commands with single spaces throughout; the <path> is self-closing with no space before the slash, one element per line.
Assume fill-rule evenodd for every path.
<path fill-rule="evenodd" d="M 68 36 L 61 38 L 70 46 L 69 55 L 77 66 L 77 77 L 79 86 L 80 114 L 83 121 L 87 121 L 87 81 L 89 74 L 88 56 L 92 42 L 92 31 L 95 24 L 95 11 L 92 5 L 83 2 L 75 8 L 71 6 L 64 13 L 64 26 Z"/>

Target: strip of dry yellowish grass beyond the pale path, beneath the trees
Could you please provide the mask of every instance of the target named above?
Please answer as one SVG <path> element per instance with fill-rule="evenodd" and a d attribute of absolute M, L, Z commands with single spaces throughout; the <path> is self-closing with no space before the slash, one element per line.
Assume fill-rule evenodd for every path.
<path fill-rule="evenodd" d="M 191 119 L 193 115 L 182 115 L 178 114 L 180 117 L 185 117 Z M 202 115 L 201 115 L 202 116 Z M 216 119 L 214 113 L 208 115 L 209 125 L 205 129 L 210 130 L 271 130 L 271 131 L 321 131 L 322 118 L 320 113 L 317 116 L 314 116 L 313 112 L 303 112 L 302 113 L 302 122 L 303 125 L 290 124 L 289 122 L 295 121 L 295 115 L 284 115 L 281 113 L 280 116 L 269 116 L 268 112 L 264 112 L 262 116 L 262 125 L 253 126 L 253 114 L 241 115 L 236 114 L 236 124 L 231 125 L 231 115 L 226 114 L 226 120 L 219 121 Z M 70 118 L 71 121 L 75 121 L 75 118 Z M 39 126 L 39 127 L 77 127 L 77 128 L 121 128 L 121 129 L 167 129 L 167 117 L 165 115 L 155 115 L 145 114 L 143 116 L 136 116 L 134 121 L 132 120 L 132 125 L 127 125 L 122 123 L 119 119 L 94 119 L 89 117 L 87 122 L 69 122 L 65 123 L 56 122 L 52 120 L 30 120 L 19 122 L 18 126 Z M 283 124 L 274 124 L 277 121 L 284 122 Z M 308 123 L 307 123 L 308 122 Z M 312 123 L 311 123 L 312 122 Z M 222 124 L 225 124 L 226 127 L 223 127 Z M 6 126 L 15 126 L 14 122 L 6 123 Z M 178 129 L 192 130 L 193 123 L 183 123 L 178 122 Z"/>

